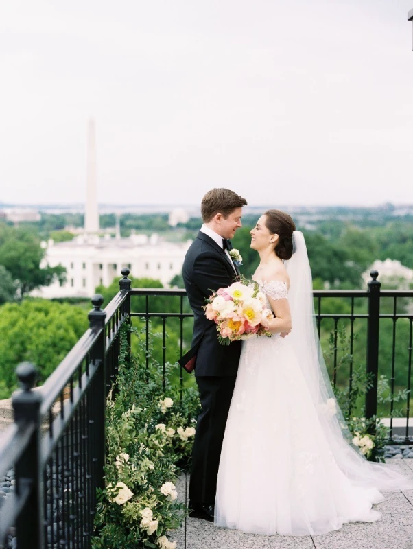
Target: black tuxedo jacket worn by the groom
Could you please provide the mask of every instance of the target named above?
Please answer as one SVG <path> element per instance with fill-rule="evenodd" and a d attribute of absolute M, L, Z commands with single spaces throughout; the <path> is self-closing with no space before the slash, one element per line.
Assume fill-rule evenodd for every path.
<path fill-rule="evenodd" d="M 220 344 L 217 325 L 202 309 L 212 291 L 226 288 L 237 279 L 231 259 L 212 238 L 199 232 L 185 255 L 182 277 L 194 321 L 191 350 L 179 363 L 185 366 L 194 359 L 197 377 L 237 375 L 241 342 Z"/>

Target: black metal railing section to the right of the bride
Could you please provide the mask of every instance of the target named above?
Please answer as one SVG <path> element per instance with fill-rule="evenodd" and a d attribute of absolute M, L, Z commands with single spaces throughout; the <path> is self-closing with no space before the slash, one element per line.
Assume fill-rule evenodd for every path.
<path fill-rule="evenodd" d="M 339 345 L 338 331 L 340 323 L 347 325 L 349 334 L 349 369 L 345 379 L 349 391 L 353 384 L 355 365 L 364 367 L 370 375 L 372 386 L 366 391 L 366 417 L 377 415 L 378 381 L 381 375 L 388 380 L 389 390 L 386 404 L 381 405 L 381 416 L 388 417 L 390 443 L 412 443 L 413 433 L 410 426 L 410 390 L 412 384 L 412 327 L 413 327 L 413 290 L 381 290 L 377 280 L 377 271 L 370 272 L 372 279 L 368 290 L 314 290 L 316 322 L 318 334 L 323 326 L 325 332 L 333 334 L 333 358 L 329 364 L 329 373 L 333 386 L 338 384 Z M 347 303 L 346 311 L 340 313 L 323 313 L 322 301 L 340 299 Z M 388 322 L 390 322 L 390 325 Z M 357 325 L 358 323 L 358 325 Z M 326 326 L 327 325 L 327 326 Z M 400 336 L 397 326 L 403 327 Z M 389 337 L 390 334 L 390 337 Z M 358 342 L 358 336 L 362 340 Z M 405 377 L 402 378 L 402 373 Z M 341 379 L 343 382 L 343 379 Z M 404 402 L 395 403 L 397 391 L 406 390 Z M 399 436 L 394 438 L 394 412 L 402 410 L 403 428 L 398 427 Z M 403 434 L 403 439 L 401 439 Z"/>

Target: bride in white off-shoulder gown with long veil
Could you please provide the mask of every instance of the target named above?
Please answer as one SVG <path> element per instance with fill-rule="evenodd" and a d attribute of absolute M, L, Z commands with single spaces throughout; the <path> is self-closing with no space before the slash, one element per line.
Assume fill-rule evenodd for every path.
<path fill-rule="evenodd" d="M 381 514 L 372 505 L 384 500 L 379 490 L 412 483 L 351 446 L 320 350 L 303 233 L 279 210 L 261 215 L 250 233 L 261 259 L 253 278 L 274 311 L 273 335 L 243 342 L 215 524 L 314 535 L 375 521 Z"/>

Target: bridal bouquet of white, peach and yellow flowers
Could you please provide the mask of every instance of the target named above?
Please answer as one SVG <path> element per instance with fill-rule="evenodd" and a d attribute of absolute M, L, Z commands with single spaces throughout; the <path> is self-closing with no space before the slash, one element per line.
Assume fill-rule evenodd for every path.
<path fill-rule="evenodd" d="M 274 316 L 255 281 L 234 282 L 213 292 L 205 316 L 217 324 L 218 339 L 223 345 L 254 336 L 271 336 L 268 327 Z"/>

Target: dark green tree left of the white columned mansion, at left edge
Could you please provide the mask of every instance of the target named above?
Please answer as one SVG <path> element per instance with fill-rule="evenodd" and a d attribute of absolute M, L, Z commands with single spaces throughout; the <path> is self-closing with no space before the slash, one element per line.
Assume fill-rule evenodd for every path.
<path fill-rule="evenodd" d="M 0 226 L 0 264 L 16 281 L 16 294 L 22 299 L 40 286 L 66 280 L 66 269 L 61 265 L 40 267 L 45 250 L 36 236 L 25 229 Z"/>

